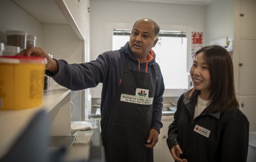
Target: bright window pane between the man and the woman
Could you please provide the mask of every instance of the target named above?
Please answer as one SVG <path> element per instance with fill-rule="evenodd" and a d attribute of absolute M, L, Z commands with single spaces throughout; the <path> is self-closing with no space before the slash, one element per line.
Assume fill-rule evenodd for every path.
<path fill-rule="evenodd" d="M 159 37 L 153 48 L 161 68 L 165 89 L 186 89 L 186 38 Z"/>

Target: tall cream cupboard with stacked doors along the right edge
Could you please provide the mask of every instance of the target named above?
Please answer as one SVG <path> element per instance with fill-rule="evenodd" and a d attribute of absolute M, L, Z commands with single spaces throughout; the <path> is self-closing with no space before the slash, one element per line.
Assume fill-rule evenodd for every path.
<path fill-rule="evenodd" d="M 236 0 L 236 2 L 235 9 L 237 8 L 237 12 L 240 12 L 235 12 L 235 17 L 240 14 L 240 22 L 234 26 L 234 42 L 237 41 L 237 44 L 234 44 L 234 51 L 237 49 L 240 63 L 238 101 L 241 111 L 250 122 L 250 131 L 256 131 L 254 108 L 256 100 L 256 0 Z M 235 18 L 234 21 L 236 20 Z M 234 64 L 235 68 L 237 64 Z"/>

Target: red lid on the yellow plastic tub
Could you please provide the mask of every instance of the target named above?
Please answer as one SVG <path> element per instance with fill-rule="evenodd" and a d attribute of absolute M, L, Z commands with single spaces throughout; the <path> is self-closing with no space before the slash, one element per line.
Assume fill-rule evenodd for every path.
<path fill-rule="evenodd" d="M 41 63 L 46 64 L 47 59 L 42 57 L 28 56 L 1 56 L 0 63 Z"/>

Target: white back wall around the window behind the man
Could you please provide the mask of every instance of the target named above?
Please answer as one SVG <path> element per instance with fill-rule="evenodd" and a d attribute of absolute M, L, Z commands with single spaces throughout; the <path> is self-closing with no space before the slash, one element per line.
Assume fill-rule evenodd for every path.
<path fill-rule="evenodd" d="M 131 29 L 136 20 L 140 18 L 151 18 L 158 23 L 160 30 L 168 30 L 170 29 L 169 27 L 181 26 L 191 28 L 193 31 L 205 33 L 206 28 L 206 6 L 203 5 L 91 0 L 90 11 L 91 59 L 96 59 L 99 54 L 112 49 L 112 46 L 109 44 L 109 41 L 112 40 L 109 36 L 112 34 L 107 33 L 107 29 L 105 28 L 108 24 L 130 24 Z M 179 90 L 166 90 L 165 94 L 174 91 L 177 92 L 177 96 L 182 93 Z M 91 88 L 91 94 L 92 98 L 100 98 L 101 85 Z"/>

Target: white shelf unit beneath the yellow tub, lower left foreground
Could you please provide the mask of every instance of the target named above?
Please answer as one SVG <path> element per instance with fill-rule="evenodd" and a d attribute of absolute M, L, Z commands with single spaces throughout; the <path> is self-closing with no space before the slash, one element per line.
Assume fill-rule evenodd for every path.
<path fill-rule="evenodd" d="M 6 153 L 34 114 L 41 109 L 45 109 L 49 114 L 51 135 L 70 135 L 70 91 L 64 87 L 45 91 L 42 105 L 39 107 L 0 111 L 0 157 Z"/>

